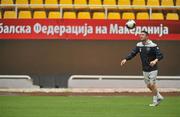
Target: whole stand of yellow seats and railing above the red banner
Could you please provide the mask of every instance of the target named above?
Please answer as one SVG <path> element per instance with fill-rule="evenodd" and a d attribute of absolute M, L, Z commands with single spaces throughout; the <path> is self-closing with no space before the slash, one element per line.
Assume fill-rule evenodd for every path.
<path fill-rule="evenodd" d="M 136 6 L 135 8 L 134 5 Z M 138 8 L 137 5 L 144 8 Z M 65 18 L 73 19 L 77 16 L 78 19 L 91 19 L 92 17 L 92 19 L 179 20 L 180 7 L 178 6 L 180 6 L 180 0 L 1 0 L 0 12 L 1 18 L 5 19 L 57 19 L 63 18 L 63 13 L 65 12 Z M 151 7 L 153 8 L 150 9 Z M 153 16 L 151 16 L 150 10 L 152 10 Z M 17 13 L 14 15 L 14 12 L 10 11 Z M 37 11 L 42 11 L 43 14 L 35 16 Z M 66 16 L 66 12 L 73 12 L 73 15 L 70 13 L 69 15 L 72 16 Z M 100 13 L 99 16 L 96 15 L 96 12 Z M 159 14 L 158 12 L 161 13 Z M 171 12 L 174 14 L 169 14 Z M 26 13 L 27 16 L 25 15 Z M 9 16 L 10 14 L 12 16 Z M 16 14 L 18 17 L 16 17 Z M 121 14 L 122 17 L 120 16 Z"/>

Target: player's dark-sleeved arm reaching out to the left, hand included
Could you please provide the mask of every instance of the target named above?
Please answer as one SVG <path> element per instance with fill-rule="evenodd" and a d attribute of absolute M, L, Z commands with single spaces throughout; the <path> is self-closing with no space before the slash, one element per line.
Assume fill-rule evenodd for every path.
<path fill-rule="evenodd" d="M 121 61 L 121 66 L 123 66 L 128 60 L 131 60 L 132 58 L 134 58 L 137 55 L 138 52 L 139 52 L 139 48 L 136 46 L 131 51 L 131 53 L 129 53 L 128 56 Z"/>

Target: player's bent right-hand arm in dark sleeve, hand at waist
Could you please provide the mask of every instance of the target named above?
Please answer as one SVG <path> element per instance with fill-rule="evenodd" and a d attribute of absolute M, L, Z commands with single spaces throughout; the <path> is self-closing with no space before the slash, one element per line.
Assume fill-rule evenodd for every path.
<path fill-rule="evenodd" d="M 151 66 L 156 65 L 158 63 L 158 61 L 163 59 L 163 54 L 160 52 L 159 47 L 156 46 L 154 49 L 155 49 L 156 59 L 154 59 L 153 61 L 150 62 Z"/>

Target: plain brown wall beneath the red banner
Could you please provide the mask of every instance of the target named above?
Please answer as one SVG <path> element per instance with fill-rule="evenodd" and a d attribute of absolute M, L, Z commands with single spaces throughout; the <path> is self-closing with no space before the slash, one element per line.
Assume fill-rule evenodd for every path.
<path fill-rule="evenodd" d="M 120 60 L 136 43 L 137 41 L 0 40 L 0 74 L 27 74 L 34 76 L 35 83 L 40 83 L 40 78 L 45 76 L 49 79 L 71 74 L 141 75 L 139 56 L 120 67 Z M 165 56 L 159 63 L 159 75 L 180 75 L 180 41 L 157 43 Z"/>

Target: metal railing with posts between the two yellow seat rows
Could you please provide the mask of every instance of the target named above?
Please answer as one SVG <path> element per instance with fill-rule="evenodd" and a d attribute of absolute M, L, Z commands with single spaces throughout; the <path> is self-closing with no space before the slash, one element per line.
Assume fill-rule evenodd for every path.
<path fill-rule="evenodd" d="M 85 7 L 82 9 L 91 9 L 91 7 L 96 7 L 97 9 L 104 9 L 105 12 L 105 19 L 107 19 L 108 11 L 110 9 L 116 9 L 119 11 L 123 10 L 137 10 L 137 9 L 146 9 L 149 11 L 149 16 L 151 19 L 151 14 L 153 9 L 173 9 L 173 10 L 180 10 L 180 6 L 142 6 L 142 5 L 90 5 L 90 4 L 0 4 L 0 9 L 9 9 L 10 7 L 15 9 L 16 17 L 18 15 L 18 10 L 21 9 L 21 7 L 27 7 L 27 9 L 35 9 L 33 7 L 42 7 L 43 9 L 49 9 L 46 7 L 57 7 L 60 11 L 60 17 L 62 17 L 62 13 L 64 9 L 67 9 L 65 7 L 71 7 L 69 9 L 78 10 L 81 8 L 77 7 Z M 94 9 L 96 9 L 94 8 Z M 93 8 L 92 8 L 93 9 Z"/>

